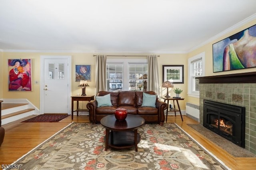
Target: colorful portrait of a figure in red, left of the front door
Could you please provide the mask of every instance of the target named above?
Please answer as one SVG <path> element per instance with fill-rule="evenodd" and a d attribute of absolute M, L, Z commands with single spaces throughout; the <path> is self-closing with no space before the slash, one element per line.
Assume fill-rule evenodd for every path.
<path fill-rule="evenodd" d="M 8 59 L 9 91 L 31 91 L 31 59 Z"/>

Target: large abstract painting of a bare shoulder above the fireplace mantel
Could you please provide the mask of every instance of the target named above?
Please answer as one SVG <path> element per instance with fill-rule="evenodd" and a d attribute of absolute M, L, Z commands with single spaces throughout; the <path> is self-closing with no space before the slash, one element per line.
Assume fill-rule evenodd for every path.
<path fill-rule="evenodd" d="M 256 25 L 212 44 L 213 72 L 256 67 Z"/>

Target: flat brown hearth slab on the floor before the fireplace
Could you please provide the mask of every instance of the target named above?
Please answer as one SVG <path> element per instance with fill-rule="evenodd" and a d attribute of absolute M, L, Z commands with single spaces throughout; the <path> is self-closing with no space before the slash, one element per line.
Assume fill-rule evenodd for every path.
<path fill-rule="evenodd" d="M 233 142 L 230 142 L 222 136 L 212 132 L 208 128 L 205 128 L 203 125 L 188 124 L 188 126 L 192 127 L 194 130 L 220 146 L 223 150 L 226 150 L 228 153 L 232 154 L 234 157 L 256 157 L 256 154 L 253 154 L 249 150 L 241 148 Z"/>

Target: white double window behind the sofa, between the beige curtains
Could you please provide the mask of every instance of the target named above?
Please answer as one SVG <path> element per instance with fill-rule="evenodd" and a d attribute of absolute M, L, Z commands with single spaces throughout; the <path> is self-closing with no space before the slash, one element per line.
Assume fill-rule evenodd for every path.
<path fill-rule="evenodd" d="M 147 59 L 107 59 L 107 91 L 143 90 L 148 73 Z"/>

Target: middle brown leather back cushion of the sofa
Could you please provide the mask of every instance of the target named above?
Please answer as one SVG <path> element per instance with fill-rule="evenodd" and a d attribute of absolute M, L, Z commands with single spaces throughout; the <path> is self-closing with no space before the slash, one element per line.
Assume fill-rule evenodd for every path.
<path fill-rule="evenodd" d="M 119 91 L 118 106 L 120 105 L 135 106 L 135 92 Z"/>

